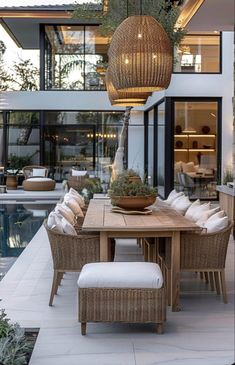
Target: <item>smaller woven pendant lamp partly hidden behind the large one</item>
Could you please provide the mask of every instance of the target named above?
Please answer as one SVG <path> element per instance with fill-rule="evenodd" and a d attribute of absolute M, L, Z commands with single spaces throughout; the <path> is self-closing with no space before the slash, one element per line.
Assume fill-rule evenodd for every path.
<path fill-rule="evenodd" d="M 144 105 L 151 93 L 120 92 L 113 86 L 109 68 L 105 74 L 106 87 L 110 103 L 115 106 L 141 106 Z"/>

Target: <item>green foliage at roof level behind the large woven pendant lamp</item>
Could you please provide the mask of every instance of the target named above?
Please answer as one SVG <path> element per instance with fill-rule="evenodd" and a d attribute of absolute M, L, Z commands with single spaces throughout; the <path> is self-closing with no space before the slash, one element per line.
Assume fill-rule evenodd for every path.
<path fill-rule="evenodd" d="M 124 19 L 141 12 L 143 15 L 151 15 L 163 26 L 174 46 L 180 43 L 186 33 L 183 29 L 175 29 L 180 10 L 169 0 L 142 0 L 142 11 L 139 0 L 109 0 L 107 13 L 103 13 L 100 1 L 96 3 L 95 6 L 92 3 L 77 4 L 72 16 L 81 20 L 96 21 L 100 24 L 103 36 L 111 37 Z"/>

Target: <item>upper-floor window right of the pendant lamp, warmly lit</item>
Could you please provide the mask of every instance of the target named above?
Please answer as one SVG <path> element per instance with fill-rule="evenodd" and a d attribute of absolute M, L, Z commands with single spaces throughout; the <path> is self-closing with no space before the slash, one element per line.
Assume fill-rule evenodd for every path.
<path fill-rule="evenodd" d="M 220 34 L 188 34 L 174 54 L 174 72 L 219 73 Z"/>

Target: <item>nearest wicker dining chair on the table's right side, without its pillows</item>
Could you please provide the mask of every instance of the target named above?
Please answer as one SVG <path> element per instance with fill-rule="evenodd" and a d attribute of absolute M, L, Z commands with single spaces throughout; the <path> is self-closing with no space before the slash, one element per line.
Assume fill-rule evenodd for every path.
<path fill-rule="evenodd" d="M 215 233 L 185 232 L 180 238 L 180 271 L 199 272 L 210 281 L 211 289 L 223 295 L 227 303 L 225 283 L 225 260 L 233 224 Z M 168 302 L 171 295 L 171 243 L 166 240 L 165 257 L 160 256 L 165 264 L 167 275 Z"/>

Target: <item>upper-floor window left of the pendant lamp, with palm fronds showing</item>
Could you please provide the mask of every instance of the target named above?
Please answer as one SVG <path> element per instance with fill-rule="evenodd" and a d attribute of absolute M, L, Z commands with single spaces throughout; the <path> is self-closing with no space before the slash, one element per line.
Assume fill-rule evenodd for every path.
<path fill-rule="evenodd" d="M 107 50 L 98 26 L 45 26 L 45 88 L 105 90 Z"/>

